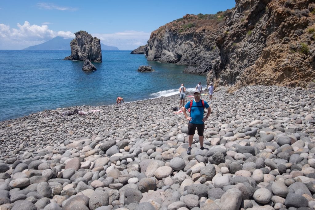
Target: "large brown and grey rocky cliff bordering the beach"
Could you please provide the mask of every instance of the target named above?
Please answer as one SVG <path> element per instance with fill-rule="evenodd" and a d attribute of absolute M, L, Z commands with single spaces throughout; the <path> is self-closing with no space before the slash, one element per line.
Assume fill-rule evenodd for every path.
<path fill-rule="evenodd" d="M 215 15 L 185 15 L 153 31 L 148 60 L 188 65 L 207 82 L 306 87 L 315 80 L 315 3 L 236 0 Z"/>

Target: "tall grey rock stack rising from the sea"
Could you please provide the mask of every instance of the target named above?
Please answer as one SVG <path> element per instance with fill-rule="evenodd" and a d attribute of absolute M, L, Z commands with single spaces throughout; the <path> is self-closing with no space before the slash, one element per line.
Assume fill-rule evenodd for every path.
<path fill-rule="evenodd" d="M 100 39 L 93 38 L 86 31 L 78 31 L 75 35 L 76 38 L 70 42 L 71 55 L 66 57 L 65 60 L 102 62 Z"/>

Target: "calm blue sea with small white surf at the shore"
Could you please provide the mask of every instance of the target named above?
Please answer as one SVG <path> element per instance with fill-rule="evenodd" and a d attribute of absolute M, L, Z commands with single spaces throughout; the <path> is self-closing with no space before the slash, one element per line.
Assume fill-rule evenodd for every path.
<path fill-rule="evenodd" d="M 206 77 L 185 74 L 185 66 L 147 61 L 130 51 L 102 51 L 97 71 L 82 71 L 83 61 L 63 60 L 70 50 L 0 50 L 0 121 L 76 105 L 111 105 L 192 91 Z M 138 72 L 149 65 L 154 72 Z"/>

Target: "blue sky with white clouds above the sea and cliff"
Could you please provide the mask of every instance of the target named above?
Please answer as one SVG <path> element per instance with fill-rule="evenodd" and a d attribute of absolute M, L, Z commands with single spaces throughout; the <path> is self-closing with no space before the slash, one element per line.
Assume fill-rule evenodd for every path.
<path fill-rule="evenodd" d="M 120 50 L 145 45 L 152 31 L 185 14 L 215 14 L 235 0 L 0 1 L 0 49 L 23 49 L 80 30 Z"/>

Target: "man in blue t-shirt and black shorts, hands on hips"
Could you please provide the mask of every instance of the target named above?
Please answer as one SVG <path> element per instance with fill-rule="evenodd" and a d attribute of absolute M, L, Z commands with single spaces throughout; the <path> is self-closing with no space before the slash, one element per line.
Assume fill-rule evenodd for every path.
<path fill-rule="evenodd" d="M 192 101 L 192 107 L 190 111 L 190 117 L 187 116 L 186 110 L 190 108 L 190 101 L 183 107 L 183 113 L 186 117 L 186 119 L 189 121 L 188 123 L 188 149 L 187 149 L 187 154 L 190 155 L 190 152 L 192 150 L 192 138 L 195 134 L 196 128 L 198 131 L 199 135 L 199 142 L 200 142 L 200 149 L 204 150 L 203 147 L 203 131 L 204 131 L 204 122 L 208 119 L 210 113 L 211 113 L 211 108 L 208 105 L 207 102 L 204 102 L 204 107 L 208 110 L 207 116 L 203 117 L 203 105 L 202 105 L 202 100 L 200 100 L 200 91 L 195 90 L 194 92 L 194 100 Z"/>

